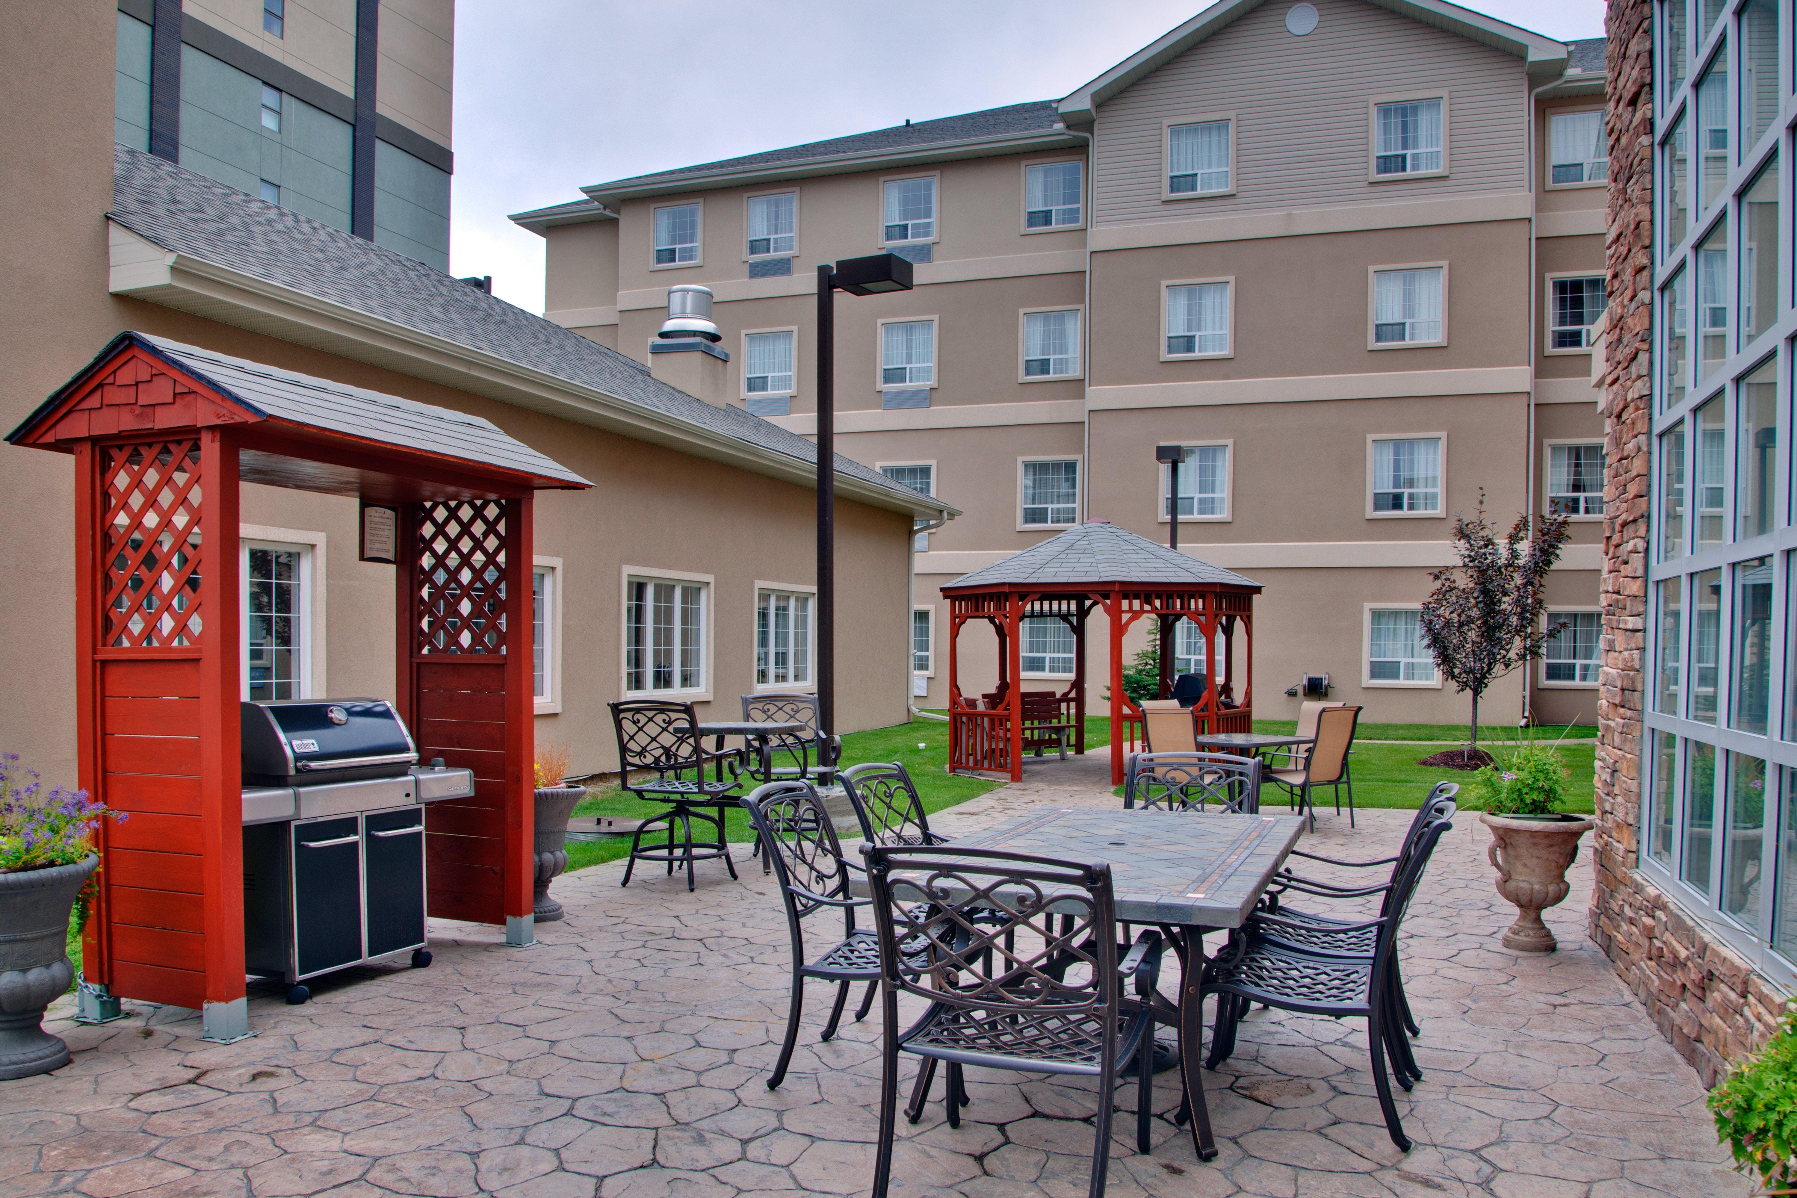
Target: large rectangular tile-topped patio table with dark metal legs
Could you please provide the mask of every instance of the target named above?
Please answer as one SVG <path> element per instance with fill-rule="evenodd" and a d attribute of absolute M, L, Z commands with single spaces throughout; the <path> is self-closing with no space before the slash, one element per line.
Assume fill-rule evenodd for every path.
<path fill-rule="evenodd" d="M 1179 1031 L 1181 1117 L 1190 1112 L 1199 1158 L 1211 1160 L 1217 1144 L 1200 1072 L 1204 932 L 1247 921 L 1303 828 L 1297 815 L 1057 806 L 1006 819 L 954 844 L 1109 862 L 1118 921 L 1157 925 L 1179 956 L 1179 1002 L 1155 995 L 1154 1015 Z M 864 876 L 855 875 L 850 885 L 868 894 Z"/>

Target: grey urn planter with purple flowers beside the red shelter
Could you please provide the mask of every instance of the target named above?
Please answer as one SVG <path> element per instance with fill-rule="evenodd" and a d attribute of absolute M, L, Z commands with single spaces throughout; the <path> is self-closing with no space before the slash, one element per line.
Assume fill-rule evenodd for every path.
<path fill-rule="evenodd" d="M 0 753 L 0 1079 L 68 1063 L 68 1045 L 43 1029 L 43 1008 L 75 979 L 68 916 L 79 902 L 86 921 L 101 864 L 92 828 L 106 814 L 86 790 L 45 794 L 36 771 Z"/>

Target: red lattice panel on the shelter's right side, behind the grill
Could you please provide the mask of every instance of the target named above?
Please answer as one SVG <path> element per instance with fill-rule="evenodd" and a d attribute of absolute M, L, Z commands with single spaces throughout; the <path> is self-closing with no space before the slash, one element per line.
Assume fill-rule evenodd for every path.
<path fill-rule="evenodd" d="M 419 505 L 419 654 L 505 652 L 505 503 Z"/>

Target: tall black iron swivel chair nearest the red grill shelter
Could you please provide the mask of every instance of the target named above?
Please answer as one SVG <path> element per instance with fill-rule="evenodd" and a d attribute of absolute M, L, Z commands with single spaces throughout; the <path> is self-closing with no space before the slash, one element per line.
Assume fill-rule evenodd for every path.
<path fill-rule="evenodd" d="M 638 860 L 686 866 L 686 891 L 694 889 L 694 862 L 722 857 L 730 876 L 737 864 L 730 860 L 730 841 L 724 837 L 724 812 L 737 806 L 742 776 L 742 754 L 708 753 L 699 738 L 699 720 L 690 702 L 663 699 L 625 699 L 613 702 L 611 726 L 618 733 L 618 787 L 651 803 L 668 803 L 668 810 L 645 819 L 631 837 L 631 860 L 624 868 L 622 885 L 631 884 Z M 706 767 L 715 776 L 706 780 Z M 633 772 L 654 771 L 649 781 L 631 781 Z M 724 774 L 730 774 L 726 780 Z M 686 778 L 692 774 L 692 778 Z M 715 841 L 694 841 L 692 821 L 712 824 Z M 667 824 L 667 844 L 643 844 L 643 833 Z M 674 837 L 679 826 L 681 839 Z"/>

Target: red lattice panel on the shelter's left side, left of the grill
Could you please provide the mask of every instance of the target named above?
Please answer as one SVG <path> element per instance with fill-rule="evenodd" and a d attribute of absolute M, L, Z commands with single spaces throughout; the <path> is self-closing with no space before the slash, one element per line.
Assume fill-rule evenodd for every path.
<path fill-rule="evenodd" d="M 101 451 L 101 645 L 199 643 L 199 442 Z"/>

